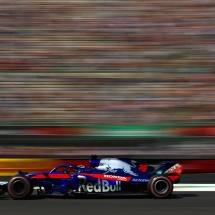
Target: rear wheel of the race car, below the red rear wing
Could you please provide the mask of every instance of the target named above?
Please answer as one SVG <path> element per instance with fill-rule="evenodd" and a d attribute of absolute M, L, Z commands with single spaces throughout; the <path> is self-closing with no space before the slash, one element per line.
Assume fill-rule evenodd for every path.
<path fill-rule="evenodd" d="M 155 175 L 148 182 L 148 191 L 154 198 L 167 198 L 172 194 L 173 184 L 169 178 Z"/>

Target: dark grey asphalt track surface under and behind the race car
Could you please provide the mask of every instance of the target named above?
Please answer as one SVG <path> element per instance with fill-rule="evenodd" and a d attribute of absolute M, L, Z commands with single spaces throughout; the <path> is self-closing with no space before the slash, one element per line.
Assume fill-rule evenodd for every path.
<path fill-rule="evenodd" d="M 0 181 L 3 179 L 0 177 Z M 185 174 L 181 183 L 215 183 L 215 174 Z M 64 198 L 52 196 L 28 200 L 0 198 L 0 214 L 15 215 L 143 215 L 143 214 L 215 214 L 215 192 L 173 192 L 168 199 L 153 199 L 148 195 L 94 196 Z"/>

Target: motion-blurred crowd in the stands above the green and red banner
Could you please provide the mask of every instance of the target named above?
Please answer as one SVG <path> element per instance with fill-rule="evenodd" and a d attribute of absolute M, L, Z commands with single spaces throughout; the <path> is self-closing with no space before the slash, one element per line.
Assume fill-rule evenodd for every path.
<path fill-rule="evenodd" d="M 0 123 L 215 121 L 213 0 L 0 0 Z"/>

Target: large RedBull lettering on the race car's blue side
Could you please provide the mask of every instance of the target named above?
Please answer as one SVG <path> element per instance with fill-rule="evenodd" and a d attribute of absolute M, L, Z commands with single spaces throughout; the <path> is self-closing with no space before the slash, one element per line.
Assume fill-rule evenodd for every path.
<path fill-rule="evenodd" d="M 121 191 L 121 181 L 115 181 L 110 184 L 107 180 L 98 179 L 97 183 L 88 182 L 86 177 L 79 177 L 79 192 L 100 193 Z"/>

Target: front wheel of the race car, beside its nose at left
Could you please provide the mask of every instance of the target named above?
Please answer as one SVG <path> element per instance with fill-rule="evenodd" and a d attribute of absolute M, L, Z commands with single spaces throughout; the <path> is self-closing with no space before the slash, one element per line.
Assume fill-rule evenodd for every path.
<path fill-rule="evenodd" d="M 26 199 L 32 193 L 30 181 L 24 176 L 15 176 L 8 182 L 8 194 L 14 199 Z"/>

